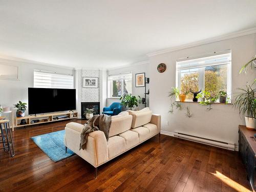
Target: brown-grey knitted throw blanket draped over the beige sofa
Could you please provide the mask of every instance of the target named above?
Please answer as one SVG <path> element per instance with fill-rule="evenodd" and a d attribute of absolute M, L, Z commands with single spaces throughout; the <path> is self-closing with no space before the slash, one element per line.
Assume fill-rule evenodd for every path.
<path fill-rule="evenodd" d="M 81 133 L 80 150 L 81 148 L 83 150 L 86 148 L 87 138 L 91 132 L 102 131 L 105 134 L 106 140 L 109 140 L 111 116 L 105 114 L 94 115 L 85 125 Z"/>

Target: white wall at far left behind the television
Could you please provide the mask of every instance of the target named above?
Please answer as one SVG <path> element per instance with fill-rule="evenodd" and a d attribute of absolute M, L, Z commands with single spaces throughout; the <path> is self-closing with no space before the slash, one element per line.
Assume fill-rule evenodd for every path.
<path fill-rule="evenodd" d="M 28 103 L 28 88 L 33 88 L 34 86 L 34 70 L 51 71 L 62 74 L 74 74 L 75 72 L 72 69 L 37 65 L 34 63 L 8 59 L 0 59 L 0 63 L 8 63 L 9 65 L 19 66 L 20 70 L 20 80 L 0 79 L 0 104 L 2 106 L 10 106 L 11 109 L 13 104 L 17 103 L 19 100 Z M 47 101 L 42 101 L 41 104 L 44 104 L 44 102 Z M 26 111 L 26 115 L 27 114 L 28 110 Z"/>

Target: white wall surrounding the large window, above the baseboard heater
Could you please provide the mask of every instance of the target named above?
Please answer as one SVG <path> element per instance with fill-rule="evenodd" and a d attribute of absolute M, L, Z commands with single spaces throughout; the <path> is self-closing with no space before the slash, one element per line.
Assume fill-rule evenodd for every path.
<path fill-rule="evenodd" d="M 182 131 L 198 136 L 223 140 L 238 144 L 238 125 L 244 120 L 230 104 L 214 104 L 214 109 L 206 111 L 205 106 L 198 103 L 182 103 L 183 110 L 169 114 L 170 99 L 167 97 L 171 87 L 175 87 L 176 59 L 213 51 L 231 49 L 232 51 L 232 92 L 244 87 L 246 82 L 253 82 L 256 70 L 248 74 L 239 74 L 242 65 L 256 53 L 256 34 L 218 41 L 207 45 L 169 52 L 150 57 L 150 108 L 154 113 L 162 115 L 162 130 L 172 133 Z M 165 63 L 164 73 L 157 71 L 159 63 Z M 189 106 L 192 118 L 186 118 L 185 108 Z M 169 121 L 169 125 L 166 125 Z"/>

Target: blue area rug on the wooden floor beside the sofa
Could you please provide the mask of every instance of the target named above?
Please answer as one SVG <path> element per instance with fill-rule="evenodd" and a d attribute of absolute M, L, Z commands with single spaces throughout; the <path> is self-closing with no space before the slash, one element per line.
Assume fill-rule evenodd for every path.
<path fill-rule="evenodd" d="M 39 146 L 39 148 L 45 152 L 48 157 L 54 162 L 66 159 L 72 155 L 74 152 L 68 149 L 66 153 L 66 146 L 64 144 L 65 130 L 52 132 L 44 135 L 38 135 L 31 137 L 31 139 Z"/>

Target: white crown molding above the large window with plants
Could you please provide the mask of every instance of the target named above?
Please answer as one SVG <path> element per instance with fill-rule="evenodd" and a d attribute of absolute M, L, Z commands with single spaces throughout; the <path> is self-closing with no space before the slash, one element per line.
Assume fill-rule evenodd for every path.
<path fill-rule="evenodd" d="M 164 53 L 179 51 L 179 50 L 192 48 L 192 47 L 197 47 L 197 46 L 202 46 L 202 45 L 206 45 L 206 44 L 211 44 L 212 42 L 218 42 L 218 41 L 227 40 L 227 39 L 231 39 L 231 38 L 250 35 L 250 34 L 253 34 L 253 33 L 256 33 L 256 27 L 251 28 L 251 29 L 246 29 L 246 30 L 242 30 L 242 31 L 229 33 L 229 34 L 225 34 L 225 35 L 221 35 L 221 36 L 217 36 L 217 37 L 212 37 L 212 38 L 208 38 L 208 39 L 204 39 L 204 40 L 200 40 L 200 41 L 196 41 L 196 42 L 192 42 L 190 44 L 185 44 L 185 45 L 181 45 L 181 46 L 176 46 L 176 47 L 172 47 L 172 48 L 168 48 L 168 49 L 155 51 L 155 52 L 152 52 L 152 53 L 148 53 L 146 55 L 148 57 L 152 57 L 152 56 L 160 55 L 160 54 L 164 54 Z"/>

